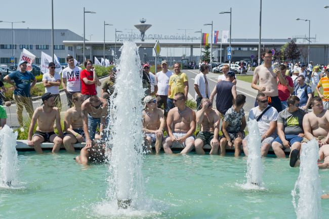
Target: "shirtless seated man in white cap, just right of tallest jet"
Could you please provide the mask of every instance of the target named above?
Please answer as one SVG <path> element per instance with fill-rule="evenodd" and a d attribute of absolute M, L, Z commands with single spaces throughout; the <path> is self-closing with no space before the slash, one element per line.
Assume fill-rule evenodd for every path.
<path fill-rule="evenodd" d="M 152 152 L 152 144 L 155 143 L 155 152 L 158 154 L 161 149 L 162 131 L 165 128 L 165 118 L 162 110 L 156 108 L 156 100 L 152 96 L 146 96 L 143 100 L 143 129 L 146 136 L 147 152 Z"/>

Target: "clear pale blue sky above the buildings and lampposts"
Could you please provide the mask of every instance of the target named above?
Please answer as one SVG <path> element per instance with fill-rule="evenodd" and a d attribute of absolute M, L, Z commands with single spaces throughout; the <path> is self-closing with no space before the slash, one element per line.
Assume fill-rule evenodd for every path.
<path fill-rule="evenodd" d="M 31 3 L 28 6 L 28 3 Z M 311 20 L 311 37 L 318 42 L 329 42 L 329 5 L 325 0 L 263 0 L 262 37 L 289 38 L 307 35 L 308 22 L 296 18 Z M 210 26 L 203 26 L 213 20 L 214 30 L 229 29 L 229 14 L 219 14 L 232 7 L 232 38 L 259 37 L 260 0 L 211 0 L 211 1 L 86 1 L 54 0 L 54 28 L 70 29 L 83 34 L 83 7 L 95 11 L 86 14 L 86 38 L 103 40 L 103 22 L 113 24 L 106 27 L 106 40 L 114 40 L 114 28 L 129 34 L 139 31 L 134 27 L 140 18 L 146 18 L 152 27 L 146 34 L 183 35 L 187 30 L 189 36 L 202 28 L 202 32 L 211 32 Z M 51 0 L 2 1 L 0 20 L 26 21 L 15 24 L 14 28 L 51 28 Z M 21 12 L 21 13 L 20 13 Z M 0 23 L 0 28 L 11 28 L 9 23 Z M 125 30 L 127 29 L 127 30 Z M 129 30 L 130 29 L 130 30 Z"/>

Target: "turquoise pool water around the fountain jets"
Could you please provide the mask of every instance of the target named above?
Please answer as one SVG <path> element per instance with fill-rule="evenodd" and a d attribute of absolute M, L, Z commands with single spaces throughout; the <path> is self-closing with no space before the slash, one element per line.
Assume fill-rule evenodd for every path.
<path fill-rule="evenodd" d="M 19 189 L 0 189 L 0 218 L 296 218 L 291 191 L 299 168 L 263 158 L 263 190 L 244 190 L 246 158 L 147 155 L 147 210 L 116 211 L 106 202 L 107 165 L 81 166 L 76 155 L 19 153 Z M 329 174 L 320 170 L 329 193 Z M 322 212 L 329 200 L 322 200 Z M 322 216 L 326 218 L 325 216 Z"/>

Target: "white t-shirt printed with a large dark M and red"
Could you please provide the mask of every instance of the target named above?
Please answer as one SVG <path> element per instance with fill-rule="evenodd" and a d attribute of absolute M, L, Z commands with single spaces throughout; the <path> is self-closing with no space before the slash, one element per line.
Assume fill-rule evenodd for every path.
<path fill-rule="evenodd" d="M 66 67 L 62 71 L 62 78 L 66 78 L 66 89 L 68 92 L 80 92 L 81 81 L 80 81 L 81 68 L 75 66 L 73 69 Z"/>

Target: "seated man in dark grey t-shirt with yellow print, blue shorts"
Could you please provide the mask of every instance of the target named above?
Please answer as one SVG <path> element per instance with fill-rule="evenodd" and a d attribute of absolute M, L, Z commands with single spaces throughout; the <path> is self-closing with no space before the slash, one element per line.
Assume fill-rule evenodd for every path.
<path fill-rule="evenodd" d="M 293 95 L 287 99 L 288 107 L 277 117 L 278 137 L 273 141 L 272 148 L 277 157 L 285 158 L 284 150 L 291 149 L 290 166 L 294 167 L 304 138 L 303 118 L 305 112 L 299 108 L 300 99 Z"/>

